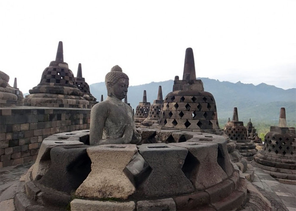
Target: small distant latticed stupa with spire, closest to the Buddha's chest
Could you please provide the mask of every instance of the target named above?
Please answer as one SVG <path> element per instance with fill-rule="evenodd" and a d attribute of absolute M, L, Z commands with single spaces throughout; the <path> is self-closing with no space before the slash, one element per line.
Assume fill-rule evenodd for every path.
<path fill-rule="evenodd" d="M 141 122 L 148 117 L 150 103 L 147 102 L 146 90 L 143 92 L 143 102 L 140 102 L 136 108 L 136 113 L 134 116 L 134 121 L 136 127 L 141 126 Z"/>

